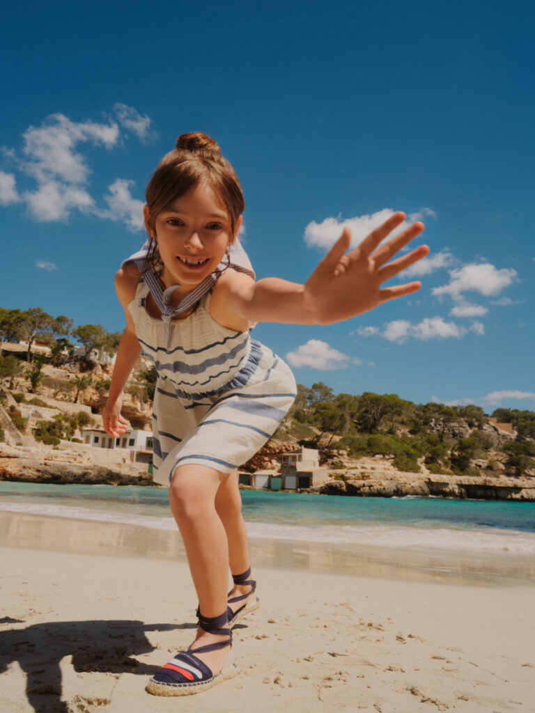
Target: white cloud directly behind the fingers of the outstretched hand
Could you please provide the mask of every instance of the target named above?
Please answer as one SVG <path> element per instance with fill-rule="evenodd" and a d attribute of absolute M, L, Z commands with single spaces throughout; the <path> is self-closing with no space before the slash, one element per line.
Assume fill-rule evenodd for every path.
<path fill-rule="evenodd" d="M 433 211 L 430 208 L 422 208 L 422 211 L 429 211 L 427 215 L 431 215 Z M 372 232 L 376 227 L 379 227 L 381 223 L 387 220 L 390 216 L 394 215 L 394 210 L 391 208 L 383 208 L 382 210 L 372 213 L 372 215 L 357 215 L 352 218 L 347 218 L 347 220 L 342 220 L 341 217 L 329 217 L 325 218 L 320 223 L 312 220 L 307 227 L 305 227 L 305 242 L 309 247 L 321 247 L 330 248 L 338 240 L 340 235 L 342 235 L 342 230 L 344 227 L 349 227 L 351 230 L 351 247 L 357 247 L 360 245 L 362 240 L 365 239 L 367 235 Z M 413 213 L 412 215 L 423 215 L 420 211 L 419 213 Z M 397 233 L 405 230 L 406 227 L 413 222 L 412 220 L 404 220 L 401 225 L 399 225 L 396 230 L 393 230 L 388 237 L 392 235 L 397 235 Z"/>

